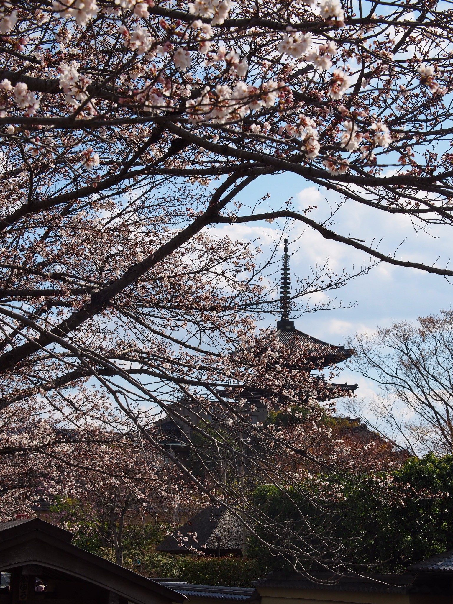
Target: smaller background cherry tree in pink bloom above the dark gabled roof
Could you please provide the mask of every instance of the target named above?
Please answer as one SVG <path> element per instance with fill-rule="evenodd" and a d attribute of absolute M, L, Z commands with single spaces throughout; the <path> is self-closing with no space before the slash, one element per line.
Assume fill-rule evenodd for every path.
<path fill-rule="evenodd" d="M 184 494 L 172 468 L 99 391 L 80 388 L 63 405 L 54 394 L 13 403 L 0 431 L 2 521 L 45 512 L 54 524 L 97 535 L 117 564 L 127 522 L 161 515 Z"/>

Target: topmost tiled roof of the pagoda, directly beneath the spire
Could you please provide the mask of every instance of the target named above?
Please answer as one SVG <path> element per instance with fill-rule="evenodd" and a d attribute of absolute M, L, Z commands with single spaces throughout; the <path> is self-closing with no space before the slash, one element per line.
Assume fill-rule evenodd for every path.
<path fill-rule="evenodd" d="M 291 350 L 300 350 L 306 359 L 307 365 L 313 365 L 313 369 L 335 365 L 349 359 L 354 349 L 347 349 L 345 346 L 336 346 L 324 342 L 318 338 L 310 336 L 308 333 L 301 332 L 294 327 L 294 321 L 281 319 L 277 321 L 277 332 L 275 335 L 278 341 L 286 348 Z"/>

